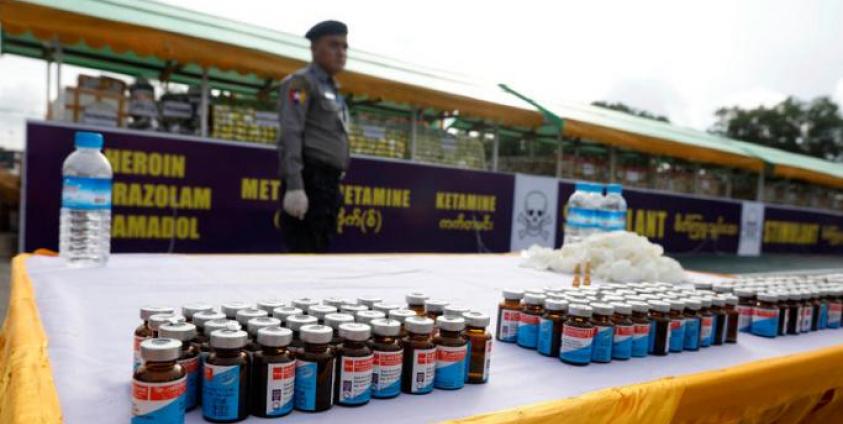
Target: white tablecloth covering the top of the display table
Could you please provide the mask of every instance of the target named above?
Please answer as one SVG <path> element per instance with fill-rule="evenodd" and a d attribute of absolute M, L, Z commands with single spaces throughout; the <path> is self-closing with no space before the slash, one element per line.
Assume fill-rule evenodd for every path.
<path fill-rule="evenodd" d="M 489 313 L 494 328 L 502 288 L 570 284 L 569 276 L 521 268 L 520 262 L 514 255 L 114 255 L 102 269 L 68 269 L 48 257 L 30 258 L 27 269 L 47 332 L 65 421 L 101 423 L 129 420 L 132 332 L 141 305 L 362 295 L 403 303 L 404 294 L 421 290 Z M 496 343 L 488 384 L 426 396 L 402 394 L 372 400 L 362 408 L 334 407 L 319 414 L 294 411 L 284 422 L 459 418 L 814 350 L 841 343 L 843 330 L 776 339 L 741 336 L 736 345 L 586 367 Z M 191 412 L 188 422 L 202 422 L 201 412 Z"/>

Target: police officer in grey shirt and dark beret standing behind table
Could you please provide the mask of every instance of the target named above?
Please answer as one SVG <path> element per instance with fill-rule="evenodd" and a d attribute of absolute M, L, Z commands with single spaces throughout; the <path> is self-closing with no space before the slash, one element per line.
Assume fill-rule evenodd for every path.
<path fill-rule="evenodd" d="M 290 252 L 325 252 L 337 230 L 349 116 L 334 75 L 345 68 L 347 34 L 342 22 L 316 24 L 305 34 L 310 65 L 281 83 L 281 229 Z"/>

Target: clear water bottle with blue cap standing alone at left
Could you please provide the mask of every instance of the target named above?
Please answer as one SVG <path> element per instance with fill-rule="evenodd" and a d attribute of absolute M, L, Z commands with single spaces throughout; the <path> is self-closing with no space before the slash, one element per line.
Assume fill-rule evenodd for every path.
<path fill-rule="evenodd" d="M 77 132 L 62 166 L 59 254 L 71 266 L 101 266 L 111 252 L 111 164 L 102 134 Z"/>

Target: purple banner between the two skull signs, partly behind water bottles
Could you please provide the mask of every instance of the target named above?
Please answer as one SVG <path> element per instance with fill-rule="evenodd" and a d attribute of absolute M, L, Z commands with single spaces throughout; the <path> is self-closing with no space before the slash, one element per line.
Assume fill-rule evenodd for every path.
<path fill-rule="evenodd" d="M 561 224 L 556 237 L 562 244 L 564 211 L 574 184 L 559 183 Z M 627 230 L 646 236 L 671 253 L 736 253 L 740 238 L 741 203 L 624 188 L 628 204 Z"/>

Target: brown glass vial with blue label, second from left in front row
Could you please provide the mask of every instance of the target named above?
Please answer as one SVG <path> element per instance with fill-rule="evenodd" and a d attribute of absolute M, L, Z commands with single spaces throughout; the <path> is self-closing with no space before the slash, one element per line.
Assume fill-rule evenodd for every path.
<path fill-rule="evenodd" d="M 202 381 L 202 417 L 208 421 L 230 423 L 249 416 L 251 363 L 243 351 L 249 336 L 236 328 L 211 333 Z"/>

